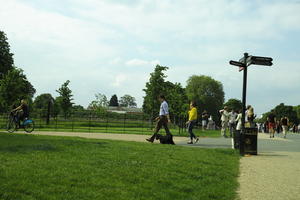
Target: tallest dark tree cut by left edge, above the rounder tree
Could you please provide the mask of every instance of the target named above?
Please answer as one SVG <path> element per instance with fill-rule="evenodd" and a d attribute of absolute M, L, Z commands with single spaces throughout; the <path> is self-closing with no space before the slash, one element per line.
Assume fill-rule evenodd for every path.
<path fill-rule="evenodd" d="M 10 53 L 10 46 L 6 34 L 0 31 L 0 79 L 14 68 L 13 54 Z"/>

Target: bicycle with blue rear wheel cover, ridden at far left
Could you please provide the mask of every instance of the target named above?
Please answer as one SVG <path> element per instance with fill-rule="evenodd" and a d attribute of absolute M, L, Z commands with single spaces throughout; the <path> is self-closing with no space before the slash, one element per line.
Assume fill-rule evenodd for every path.
<path fill-rule="evenodd" d="M 23 128 L 27 133 L 31 133 L 34 131 L 34 121 L 25 118 L 23 122 L 20 124 L 20 127 L 18 127 L 19 122 L 18 122 L 18 117 L 14 112 L 11 112 L 8 115 L 8 120 L 7 120 L 7 132 L 13 133 L 14 131 L 18 130 L 19 128 Z"/>

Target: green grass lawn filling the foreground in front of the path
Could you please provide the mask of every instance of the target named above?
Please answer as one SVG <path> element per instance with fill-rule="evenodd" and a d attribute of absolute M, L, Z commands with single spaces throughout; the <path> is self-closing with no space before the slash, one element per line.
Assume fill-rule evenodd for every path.
<path fill-rule="evenodd" d="M 235 199 L 230 149 L 0 133 L 0 199 Z"/>

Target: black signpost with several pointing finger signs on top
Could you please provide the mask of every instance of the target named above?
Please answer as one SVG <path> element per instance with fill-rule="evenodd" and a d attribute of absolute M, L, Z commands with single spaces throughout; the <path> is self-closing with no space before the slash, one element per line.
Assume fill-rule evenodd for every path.
<path fill-rule="evenodd" d="M 260 56 L 249 56 L 248 53 L 244 53 L 239 61 L 229 61 L 229 64 L 238 66 L 240 71 L 243 71 L 243 94 L 242 94 L 242 130 L 240 134 L 239 149 L 240 154 L 245 155 L 245 114 L 246 114 L 246 93 L 247 93 L 247 70 L 250 65 L 264 65 L 272 66 L 273 59 L 269 57 L 260 57 Z"/>

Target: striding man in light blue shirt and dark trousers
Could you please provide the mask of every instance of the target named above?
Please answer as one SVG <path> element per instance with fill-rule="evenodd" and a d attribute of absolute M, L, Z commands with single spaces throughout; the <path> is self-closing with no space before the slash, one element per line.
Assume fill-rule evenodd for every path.
<path fill-rule="evenodd" d="M 169 127 L 168 127 L 168 123 L 171 122 L 170 120 L 170 116 L 169 116 L 169 106 L 168 106 L 168 103 L 166 102 L 166 98 L 164 95 L 160 95 L 158 97 L 158 100 L 161 102 L 160 104 L 160 110 L 159 110 L 159 116 L 155 119 L 157 121 L 156 123 L 156 127 L 155 127 L 155 131 L 154 131 L 154 134 L 146 139 L 148 142 L 153 142 L 154 139 L 156 139 L 157 137 L 157 134 L 159 132 L 159 130 L 164 127 L 165 128 L 165 131 L 166 131 L 166 134 L 167 135 L 171 135 L 171 132 L 169 130 Z"/>

